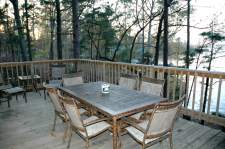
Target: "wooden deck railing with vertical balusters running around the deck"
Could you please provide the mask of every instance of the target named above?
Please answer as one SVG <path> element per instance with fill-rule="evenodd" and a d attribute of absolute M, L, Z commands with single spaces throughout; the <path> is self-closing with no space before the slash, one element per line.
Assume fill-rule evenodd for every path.
<path fill-rule="evenodd" d="M 167 90 L 166 96 L 168 98 L 171 100 L 179 99 L 186 93 L 185 105 L 187 106 L 182 108 L 181 114 L 225 126 L 225 118 L 221 116 L 221 113 L 225 112 L 225 97 L 223 97 L 225 95 L 225 91 L 223 91 L 225 73 L 222 72 L 207 72 L 175 67 L 87 59 L 67 59 L 0 63 L 0 74 L 5 84 L 14 80 L 17 85 L 23 85 L 19 81 L 18 76 L 26 75 L 39 75 L 39 83 L 42 84 L 42 82 L 51 80 L 52 64 L 65 64 L 66 73 L 82 71 L 83 78 L 86 82 L 106 81 L 118 84 L 120 75 L 124 73 L 151 78 L 157 77 L 159 79 L 165 79 L 166 77 L 167 86 L 165 89 Z M 209 83 L 206 95 L 207 79 Z M 27 82 L 28 85 L 32 83 L 33 80 Z M 203 108 L 205 96 L 207 96 L 207 101 L 205 104 L 206 107 Z"/>

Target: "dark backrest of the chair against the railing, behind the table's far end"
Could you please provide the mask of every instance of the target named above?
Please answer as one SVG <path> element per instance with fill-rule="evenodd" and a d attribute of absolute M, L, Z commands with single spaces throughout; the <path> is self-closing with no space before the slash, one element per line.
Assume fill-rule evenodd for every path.
<path fill-rule="evenodd" d="M 52 65 L 52 80 L 61 80 L 65 73 L 65 65 Z"/>

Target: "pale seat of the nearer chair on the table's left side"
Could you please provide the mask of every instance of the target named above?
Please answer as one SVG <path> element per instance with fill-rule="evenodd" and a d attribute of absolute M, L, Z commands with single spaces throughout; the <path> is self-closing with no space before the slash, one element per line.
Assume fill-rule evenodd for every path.
<path fill-rule="evenodd" d="M 85 120 L 83 120 L 83 123 L 88 123 L 94 120 L 97 120 L 98 117 L 96 116 L 91 116 Z M 110 125 L 108 123 L 106 123 L 105 121 L 101 121 L 92 125 L 89 125 L 86 127 L 87 130 L 87 134 L 88 137 L 92 137 L 92 136 L 96 136 L 98 134 L 100 134 L 101 132 L 104 132 L 105 130 L 107 130 L 110 127 Z M 86 137 L 85 132 L 80 131 L 81 135 L 83 135 L 84 137 Z"/>

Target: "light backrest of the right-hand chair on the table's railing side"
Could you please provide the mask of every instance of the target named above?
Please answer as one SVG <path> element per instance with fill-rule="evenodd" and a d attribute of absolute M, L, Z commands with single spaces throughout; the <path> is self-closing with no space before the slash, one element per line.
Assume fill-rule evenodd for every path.
<path fill-rule="evenodd" d="M 140 92 L 161 96 L 164 80 L 143 77 L 140 81 Z"/>

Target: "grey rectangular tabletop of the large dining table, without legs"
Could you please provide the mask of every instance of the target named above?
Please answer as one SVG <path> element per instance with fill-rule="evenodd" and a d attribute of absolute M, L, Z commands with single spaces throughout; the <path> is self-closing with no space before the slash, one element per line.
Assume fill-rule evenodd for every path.
<path fill-rule="evenodd" d="M 136 109 L 152 106 L 159 103 L 162 99 L 160 96 L 147 95 L 113 84 L 110 84 L 109 94 L 102 94 L 102 83 L 103 82 L 92 82 L 59 87 L 59 89 L 68 93 L 70 96 L 78 98 L 80 101 L 83 100 L 91 104 L 111 116 L 122 115 Z"/>

